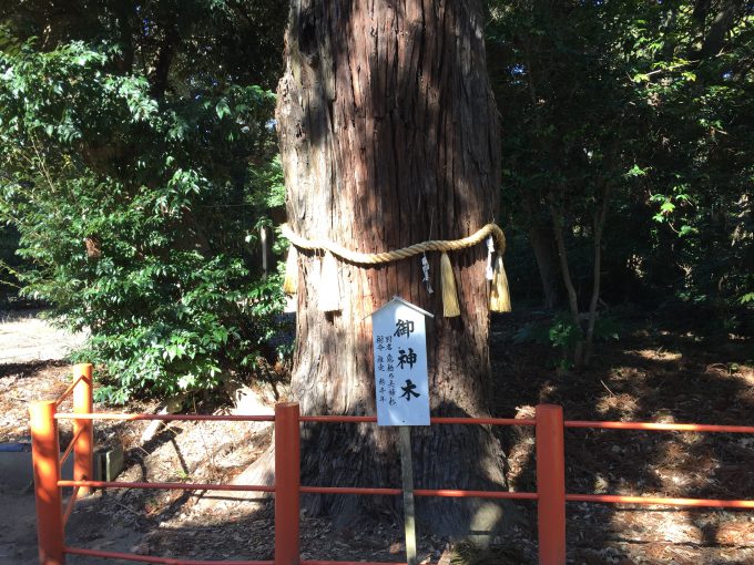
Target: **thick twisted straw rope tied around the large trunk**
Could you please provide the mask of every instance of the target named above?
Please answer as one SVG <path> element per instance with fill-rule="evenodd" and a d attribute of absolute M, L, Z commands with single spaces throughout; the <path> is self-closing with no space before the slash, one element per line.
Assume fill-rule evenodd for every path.
<path fill-rule="evenodd" d="M 385 253 L 351 251 L 350 249 L 327 239 L 306 239 L 305 237 L 295 234 L 287 224 L 281 226 L 281 233 L 298 249 L 330 251 L 333 255 L 357 265 L 390 263 L 399 259 L 407 259 L 408 257 L 425 251 L 456 251 L 477 245 L 483 242 L 489 235 L 495 238 L 497 253 L 502 254 L 506 250 L 506 236 L 497 224 L 487 224 L 477 233 L 463 237 L 462 239 L 430 239 L 429 242 L 421 242 L 420 244 L 414 244 L 401 249 Z"/>

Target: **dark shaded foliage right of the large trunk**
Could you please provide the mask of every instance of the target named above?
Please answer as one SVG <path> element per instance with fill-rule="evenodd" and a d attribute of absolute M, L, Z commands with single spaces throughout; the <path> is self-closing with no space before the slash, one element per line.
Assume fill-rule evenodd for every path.
<path fill-rule="evenodd" d="M 752 3 L 495 0 L 489 10 L 514 232 L 563 228 L 583 304 L 608 198 L 609 301 L 674 297 L 728 329 L 751 317 Z M 531 259 L 516 268 L 527 265 L 518 249 L 512 275 L 529 284 L 513 287 L 536 287 Z"/>

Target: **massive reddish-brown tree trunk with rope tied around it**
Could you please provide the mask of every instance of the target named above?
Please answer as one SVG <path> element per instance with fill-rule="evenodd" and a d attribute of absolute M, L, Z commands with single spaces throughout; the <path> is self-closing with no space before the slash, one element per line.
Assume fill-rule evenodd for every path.
<path fill-rule="evenodd" d="M 277 127 L 288 222 L 297 234 L 379 253 L 465 237 L 496 217 L 500 147 L 486 74 L 478 1 L 293 0 Z M 439 273 L 439 257 L 428 257 Z M 488 413 L 486 247 L 451 254 L 461 316 L 442 318 L 418 257 L 364 268 L 339 263 L 342 310 L 317 307 L 319 257 L 299 255 L 293 394 L 303 414 L 374 414 L 371 326 L 394 295 L 429 321 L 431 412 Z M 434 277 L 435 288 L 439 277 Z M 397 486 L 395 430 L 306 427 L 306 484 Z M 414 430 L 417 487 L 500 487 L 502 453 L 490 430 Z M 315 497 L 310 513 L 342 524 L 397 501 Z M 420 500 L 418 520 L 458 533 L 479 505 Z"/>

